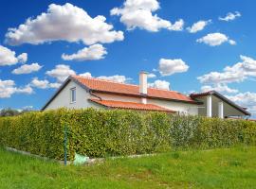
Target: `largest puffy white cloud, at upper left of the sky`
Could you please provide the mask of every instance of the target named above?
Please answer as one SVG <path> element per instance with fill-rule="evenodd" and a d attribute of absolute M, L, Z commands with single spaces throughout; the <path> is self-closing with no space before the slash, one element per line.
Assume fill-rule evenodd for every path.
<path fill-rule="evenodd" d="M 50 4 L 47 11 L 35 19 L 28 18 L 18 28 L 9 28 L 6 42 L 19 45 L 67 41 L 90 45 L 122 41 L 123 32 L 113 30 L 105 20 L 101 15 L 92 18 L 85 10 L 69 3 L 64 6 Z"/>

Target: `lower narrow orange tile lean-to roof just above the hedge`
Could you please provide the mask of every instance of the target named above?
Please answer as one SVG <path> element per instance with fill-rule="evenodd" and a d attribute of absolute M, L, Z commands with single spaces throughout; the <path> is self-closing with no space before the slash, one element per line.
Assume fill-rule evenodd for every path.
<path fill-rule="evenodd" d="M 169 109 L 165 109 L 154 104 L 141 104 L 136 102 L 123 102 L 123 101 L 114 101 L 114 100 L 98 100 L 90 99 L 91 101 L 101 104 L 102 106 L 108 108 L 117 108 L 117 109 L 130 109 L 130 110 L 139 110 L 139 111 L 160 111 L 160 112 L 174 112 Z"/>

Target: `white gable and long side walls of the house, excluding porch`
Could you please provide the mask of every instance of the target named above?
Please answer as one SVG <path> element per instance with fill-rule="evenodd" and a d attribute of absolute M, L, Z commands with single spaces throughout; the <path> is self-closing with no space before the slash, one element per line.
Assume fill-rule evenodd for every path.
<path fill-rule="evenodd" d="M 76 102 L 71 102 L 71 90 L 76 89 Z M 94 93 L 97 96 L 101 97 L 103 100 L 115 100 L 115 101 L 124 101 L 124 102 L 136 102 L 141 103 L 141 98 L 117 95 L 117 94 L 103 94 L 103 93 Z M 46 106 L 45 110 L 55 110 L 59 108 L 68 108 L 68 109 L 85 109 L 85 108 L 103 108 L 101 105 L 98 105 L 94 102 L 91 102 L 90 98 L 99 99 L 94 95 L 86 92 L 81 85 L 77 84 L 74 81 L 70 81 L 64 89 L 55 97 L 53 100 Z M 195 104 L 174 102 L 172 100 L 159 100 L 159 99 L 147 99 L 148 104 L 155 104 L 157 106 L 179 112 L 184 114 L 197 115 L 197 106 Z"/>

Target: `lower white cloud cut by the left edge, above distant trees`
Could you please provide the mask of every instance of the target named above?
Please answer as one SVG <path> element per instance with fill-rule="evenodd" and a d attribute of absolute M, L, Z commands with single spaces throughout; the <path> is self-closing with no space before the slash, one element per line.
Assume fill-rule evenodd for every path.
<path fill-rule="evenodd" d="M 32 94 L 32 88 L 27 85 L 23 88 L 17 88 L 13 80 L 0 79 L 0 98 L 8 98 L 12 94 Z"/>

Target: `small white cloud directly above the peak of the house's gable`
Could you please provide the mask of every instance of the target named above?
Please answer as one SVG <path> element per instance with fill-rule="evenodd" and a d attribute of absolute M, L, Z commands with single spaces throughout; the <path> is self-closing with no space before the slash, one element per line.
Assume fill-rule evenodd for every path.
<path fill-rule="evenodd" d="M 70 69 L 69 65 L 58 64 L 54 69 L 47 71 L 46 75 L 49 77 L 55 77 L 58 82 L 63 82 L 66 77 L 76 75 L 76 72 Z"/>

